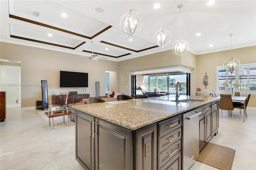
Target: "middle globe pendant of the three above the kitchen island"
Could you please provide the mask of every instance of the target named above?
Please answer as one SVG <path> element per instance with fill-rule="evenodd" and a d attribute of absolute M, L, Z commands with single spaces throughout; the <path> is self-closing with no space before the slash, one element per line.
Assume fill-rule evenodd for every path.
<path fill-rule="evenodd" d="M 168 30 L 163 29 L 163 1 L 161 2 L 161 21 L 162 27 L 154 34 L 154 43 L 159 47 L 164 47 L 171 41 L 171 33 Z"/>

